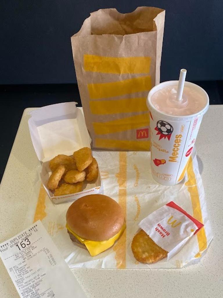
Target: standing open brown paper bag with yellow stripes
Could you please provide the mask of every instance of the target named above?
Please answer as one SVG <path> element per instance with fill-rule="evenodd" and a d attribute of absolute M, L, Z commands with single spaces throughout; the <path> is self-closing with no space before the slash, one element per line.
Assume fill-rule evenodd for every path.
<path fill-rule="evenodd" d="M 92 148 L 149 150 L 146 96 L 160 82 L 165 10 L 91 13 L 71 37 Z"/>

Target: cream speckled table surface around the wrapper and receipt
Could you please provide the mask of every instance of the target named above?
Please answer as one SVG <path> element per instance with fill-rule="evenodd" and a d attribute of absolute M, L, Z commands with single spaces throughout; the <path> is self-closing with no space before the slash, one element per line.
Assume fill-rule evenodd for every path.
<path fill-rule="evenodd" d="M 0 186 L 0 242 L 23 229 L 39 161 L 32 147 L 27 108 Z M 74 269 L 89 298 L 223 297 L 223 105 L 210 106 L 196 141 L 198 162 L 205 188 L 214 239 L 207 253 L 182 269 Z M 0 260 L 0 297 L 19 297 Z M 66 297 L 66 294 L 64 298 Z M 75 294 L 74 294 L 75 297 Z"/>

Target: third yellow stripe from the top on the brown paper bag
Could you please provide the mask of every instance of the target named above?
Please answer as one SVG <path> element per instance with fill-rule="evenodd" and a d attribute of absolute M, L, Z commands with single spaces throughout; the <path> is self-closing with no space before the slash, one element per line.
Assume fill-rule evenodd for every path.
<path fill-rule="evenodd" d="M 146 106 L 146 97 L 118 100 L 94 100 L 90 101 L 89 104 L 91 113 L 97 115 L 148 111 Z"/>

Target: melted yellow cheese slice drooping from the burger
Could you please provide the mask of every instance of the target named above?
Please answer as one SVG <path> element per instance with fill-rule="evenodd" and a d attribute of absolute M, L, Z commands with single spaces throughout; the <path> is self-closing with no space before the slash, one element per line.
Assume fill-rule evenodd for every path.
<path fill-rule="evenodd" d="M 71 228 L 68 226 L 68 224 L 66 224 L 66 228 L 72 235 L 74 235 L 75 238 L 77 238 L 77 240 L 80 241 L 80 243 L 84 244 L 87 247 L 90 255 L 92 257 L 94 257 L 97 254 L 104 252 L 109 247 L 113 246 L 115 241 L 124 232 L 124 230 L 126 228 L 126 224 L 125 223 L 123 224 L 123 226 L 121 227 L 121 230 L 115 236 L 113 236 L 112 238 L 110 238 L 108 240 L 104 240 L 104 241 L 93 241 L 93 240 L 87 240 L 85 238 L 81 238 L 80 236 L 78 236 L 71 230 Z"/>

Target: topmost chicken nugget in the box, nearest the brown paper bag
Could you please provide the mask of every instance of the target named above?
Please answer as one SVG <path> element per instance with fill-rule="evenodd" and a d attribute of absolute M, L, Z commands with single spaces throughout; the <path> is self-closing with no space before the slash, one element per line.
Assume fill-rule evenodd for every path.
<path fill-rule="evenodd" d="M 73 157 L 77 165 L 77 170 L 80 172 L 86 169 L 86 167 L 88 167 L 93 160 L 91 149 L 88 147 L 84 147 L 75 151 Z"/>

